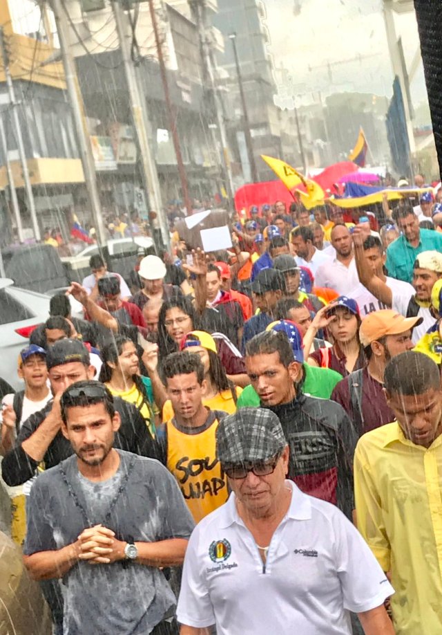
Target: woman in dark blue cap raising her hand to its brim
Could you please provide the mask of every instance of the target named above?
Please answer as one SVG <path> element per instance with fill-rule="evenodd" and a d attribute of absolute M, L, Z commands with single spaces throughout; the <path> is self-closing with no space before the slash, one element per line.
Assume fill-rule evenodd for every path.
<path fill-rule="evenodd" d="M 341 295 L 332 304 L 320 309 L 304 338 L 309 364 L 331 368 L 343 377 L 362 368 L 366 360 L 359 340 L 359 326 L 361 326 L 361 316 L 358 305 L 349 297 Z M 313 341 L 318 330 L 325 327 L 332 338 L 332 348 L 320 347 L 309 355 L 307 336 Z"/>

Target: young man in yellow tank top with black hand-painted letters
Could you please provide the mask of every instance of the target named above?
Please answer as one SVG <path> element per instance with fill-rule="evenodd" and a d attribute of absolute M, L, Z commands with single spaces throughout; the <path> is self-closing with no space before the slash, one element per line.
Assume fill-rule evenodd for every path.
<path fill-rule="evenodd" d="M 195 522 L 200 522 L 229 496 L 215 449 L 215 432 L 227 413 L 202 403 L 206 379 L 199 355 L 171 353 L 161 371 L 174 412 L 157 428 L 162 463 L 177 479 Z"/>

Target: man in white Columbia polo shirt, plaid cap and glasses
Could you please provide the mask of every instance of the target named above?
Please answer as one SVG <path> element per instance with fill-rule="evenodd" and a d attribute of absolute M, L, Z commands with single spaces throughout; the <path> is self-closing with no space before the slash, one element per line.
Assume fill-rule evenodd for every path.
<path fill-rule="evenodd" d="M 276 414 L 244 408 L 220 422 L 217 450 L 232 494 L 195 528 L 184 560 L 181 635 L 394 635 L 394 593 L 336 507 L 285 480 L 289 447 Z"/>

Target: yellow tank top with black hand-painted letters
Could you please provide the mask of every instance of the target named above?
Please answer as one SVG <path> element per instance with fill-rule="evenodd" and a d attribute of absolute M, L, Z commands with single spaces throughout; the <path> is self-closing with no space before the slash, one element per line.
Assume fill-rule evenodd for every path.
<path fill-rule="evenodd" d="M 218 419 L 200 434 L 167 429 L 167 468 L 172 472 L 195 522 L 223 505 L 229 496 L 227 478 L 215 452 Z"/>

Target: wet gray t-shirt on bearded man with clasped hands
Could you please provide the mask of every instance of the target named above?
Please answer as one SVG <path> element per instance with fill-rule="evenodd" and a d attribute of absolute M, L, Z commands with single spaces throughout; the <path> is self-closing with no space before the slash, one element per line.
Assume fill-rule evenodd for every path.
<path fill-rule="evenodd" d="M 107 481 L 82 477 L 75 456 L 37 479 L 24 553 L 61 549 L 98 523 L 120 540 L 189 537 L 193 520 L 170 472 L 153 459 L 118 452 L 119 469 Z M 148 634 L 176 604 L 162 571 L 136 562 L 79 562 L 64 583 L 64 635 Z"/>

